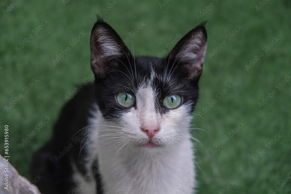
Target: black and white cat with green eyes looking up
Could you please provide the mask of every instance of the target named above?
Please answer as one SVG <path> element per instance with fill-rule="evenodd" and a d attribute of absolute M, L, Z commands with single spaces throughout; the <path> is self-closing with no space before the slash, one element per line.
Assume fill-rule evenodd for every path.
<path fill-rule="evenodd" d="M 134 57 L 101 18 L 87 84 L 63 108 L 31 175 L 41 193 L 192 194 L 189 132 L 207 35 L 187 33 L 165 58 Z"/>

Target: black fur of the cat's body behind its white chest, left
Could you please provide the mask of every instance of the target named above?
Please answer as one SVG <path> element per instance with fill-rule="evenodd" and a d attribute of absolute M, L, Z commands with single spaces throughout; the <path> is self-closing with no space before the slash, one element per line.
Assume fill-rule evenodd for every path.
<path fill-rule="evenodd" d="M 36 186 L 42 194 L 72 193 L 77 183 L 72 180 L 72 161 L 76 164 L 79 172 L 86 177 L 87 170 L 84 168 L 83 159 L 86 157 L 84 149 L 80 153 L 81 141 L 86 138 L 86 128 L 91 111 L 94 110 L 95 95 L 93 84 L 87 84 L 64 106 L 58 121 L 54 126 L 52 139 L 33 155 L 30 166 L 31 177 L 39 175 L 41 178 Z M 83 144 L 86 140 L 83 141 Z M 72 144 L 70 150 L 68 146 Z M 65 150 L 65 151 L 64 151 Z M 63 152 L 63 156 L 60 154 Z M 58 161 L 57 161 L 58 160 Z M 92 162 L 97 168 L 97 161 Z M 100 177 L 95 177 L 99 183 Z M 78 183 L 79 184 L 79 183 Z M 99 193 L 101 184 L 97 184 Z M 98 193 L 98 194 L 99 194 Z"/>

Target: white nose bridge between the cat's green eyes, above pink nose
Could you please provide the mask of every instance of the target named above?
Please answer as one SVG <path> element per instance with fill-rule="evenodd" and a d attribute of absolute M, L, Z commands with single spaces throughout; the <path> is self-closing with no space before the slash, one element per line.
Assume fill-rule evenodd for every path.
<path fill-rule="evenodd" d="M 155 110 L 155 92 L 150 86 L 141 87 L 136 94 L 136 109 L 143 127 L 159 127 L 158 113 Z"/>

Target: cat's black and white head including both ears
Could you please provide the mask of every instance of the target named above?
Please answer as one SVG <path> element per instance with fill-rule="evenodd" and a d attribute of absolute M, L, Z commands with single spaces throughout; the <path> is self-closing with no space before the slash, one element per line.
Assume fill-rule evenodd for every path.
<path fill-rule="evenodd" d="M 115 126 L 108 134 L 132 149 L 179 143 L 198 99 L 206 41 L 200 25 L 166 58 L 134 58 L 118 34 L 98 20 L 91 33 L 91 68 L 97 105 Z"/>

